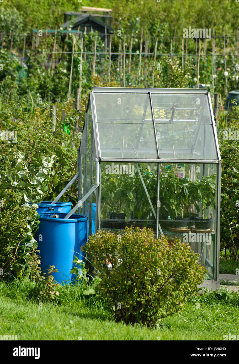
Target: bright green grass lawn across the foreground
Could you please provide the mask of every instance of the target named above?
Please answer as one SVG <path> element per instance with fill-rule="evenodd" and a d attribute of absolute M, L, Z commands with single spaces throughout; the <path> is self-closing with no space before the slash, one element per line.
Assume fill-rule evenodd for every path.
<path fill-rule="evenodd" d="M 223 340 L 228 333 L 239 334 L 238 293 L 196 296 L 181 314 L 148 329 L 115 323 L 102 302 L 89 307 L 80 299 L 79 286 L 60 288 L 59 303 L 42 308 L 32 301 L 31 289 L 29 281 L 0 283 L 0 335 L 18 335 L 18 340 Z"/>

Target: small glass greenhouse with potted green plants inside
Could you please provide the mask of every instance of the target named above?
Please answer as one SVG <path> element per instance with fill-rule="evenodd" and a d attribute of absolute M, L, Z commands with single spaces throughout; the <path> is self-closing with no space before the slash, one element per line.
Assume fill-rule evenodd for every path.
<path fill-rule="evenodd" d="M 221 160 L 206 89 L 94 87 L 78 155 L 89 235 L 147 226 L 189 242 L 204 286 L 219 286 Z"/>

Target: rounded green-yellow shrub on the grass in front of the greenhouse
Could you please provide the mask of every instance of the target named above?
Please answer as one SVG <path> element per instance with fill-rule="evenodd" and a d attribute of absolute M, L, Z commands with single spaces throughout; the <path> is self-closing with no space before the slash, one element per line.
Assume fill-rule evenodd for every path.
<path fill-rule="evenodd" d="M 156 240 L 146 228 L 126 228 L 122 237 L 100 230 L 85 249 L 99 271 L 101 296 L 115 320 L 126 324 L 153 327 L 180 312 L 206 272 L 187 243 L 175 241 L 170 248 L 165 237 Z"/>

